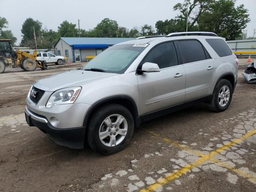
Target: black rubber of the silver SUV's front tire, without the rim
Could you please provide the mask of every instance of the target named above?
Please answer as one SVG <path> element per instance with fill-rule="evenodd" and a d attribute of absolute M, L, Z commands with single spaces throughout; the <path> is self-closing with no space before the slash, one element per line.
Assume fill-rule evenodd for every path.
<path fill-rule="evenodd" d="M 125 138 L 117 144 L 116 146 L 105 146 L 100 141 L 99 131 L 102 122 L 113 114 L 120 114 L 123 116 L 127 122 L 128 128 Z M 90 148 L 102 155 L 114 154 L 122 149 L 124 149 L 132 138 L 134 130 L 134 120 L 130 111 L 122 105 L 119 104 L 109 104 L 98 108 L 91 116 L 90 122 L 88 123 L 88 131 L 86 133 L 86 140 Z M 118 136 L 118 134 L 117 134 Z"/>

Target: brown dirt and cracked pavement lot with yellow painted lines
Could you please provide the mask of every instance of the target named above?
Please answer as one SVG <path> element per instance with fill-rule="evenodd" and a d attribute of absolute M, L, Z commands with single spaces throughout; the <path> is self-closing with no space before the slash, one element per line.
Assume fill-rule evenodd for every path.
<path fill-rule="evenodd" d="M 238 85 L 228 110 L 200 104 L 143 123 L 111 156 L 54 144 L 24 118 L 31 84 L 82 64 L 0 74 L 0 191 L 255 192 L 256 84 Z"/>

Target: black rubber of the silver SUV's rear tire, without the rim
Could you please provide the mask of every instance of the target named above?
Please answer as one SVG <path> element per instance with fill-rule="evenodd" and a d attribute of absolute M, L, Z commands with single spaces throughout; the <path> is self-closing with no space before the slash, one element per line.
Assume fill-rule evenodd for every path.
<path fill-rule="evenodd" d="M 229 100 L 226 103 L 226 105 L 221 106 L 219 103 L 219 93 L 220 93 L 220 90 L 222 89 L 222 87 L 224 87 L 224 86 L 228 86 L 228 88 L 230 90 L 230 96 L 229 96 Z M 228 106 L 230 105 L 230 102 L 232 100 L 232 94 L 233 94 L 233 88 L 232 88 L 230 81 L 228 81 L 226 79 L 221 79 L 215 86 L 213 94 L 214 95 L 213 95 L 212 101 L 209 106 L 210 110 L 213 110 L 216 112 L 222 112 L 222 111 L 226 110 L 228 108 Z"/>

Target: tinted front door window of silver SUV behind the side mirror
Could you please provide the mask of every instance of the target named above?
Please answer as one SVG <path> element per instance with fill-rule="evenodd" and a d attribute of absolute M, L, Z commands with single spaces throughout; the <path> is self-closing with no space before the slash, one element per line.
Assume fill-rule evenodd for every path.
<path fill-rule="evenodd" d="M 160 69 L 178 65 L 174 43 L 167 42 L 154 47 L 144 59 L 145 62 L 156 63 Z"/>

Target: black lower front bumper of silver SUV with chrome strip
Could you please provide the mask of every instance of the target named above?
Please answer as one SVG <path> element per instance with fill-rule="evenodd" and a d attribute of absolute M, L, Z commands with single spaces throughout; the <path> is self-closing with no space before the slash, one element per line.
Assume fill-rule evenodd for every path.
<path fill-rule="evenodd" d="M 56 144 L 74 149 L 84 148 L 86 126 L 65 129 L 54 128 L 48 122 L 47 118 L 35 114 L 27 107 L 25 109 L 25 116 L 29 126 L 36 126 L 42 132 L 47 134 Z"/>

